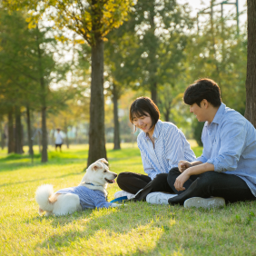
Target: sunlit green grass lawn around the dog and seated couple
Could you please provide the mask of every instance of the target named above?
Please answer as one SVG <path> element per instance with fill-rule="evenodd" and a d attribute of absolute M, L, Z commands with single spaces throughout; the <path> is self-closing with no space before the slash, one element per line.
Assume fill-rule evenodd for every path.
<path fill-rule="evenodd" d="M 135 145 L 107 148 L 113 172 L 143 173 Z M 35 152 L 32 164 L 27 154 L 0 151 L 0 255 L 256 255 L 256 202 L 215 210 L 131 202 L 118 209 L 40 217 L 37 186 L 52 183 L 56 191 L 77 185 L 87 153 L 85 145 L 63 153 L 49 147 L 49 162 L 40 163 Z M 116 183 L 109 185 L 110 200 L 118 190 Z"/>

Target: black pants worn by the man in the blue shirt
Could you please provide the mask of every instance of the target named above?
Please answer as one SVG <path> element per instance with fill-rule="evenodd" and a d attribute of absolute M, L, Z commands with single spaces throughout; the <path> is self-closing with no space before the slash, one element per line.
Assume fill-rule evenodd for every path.
<path fill-rule="evenodd" d="M 211 196 L 222 197 L 226 202 L 241 202 L 255 200 L 250 188 L 240 177 L 224 172 L 204 172 L 199 175 L 192 175 L 184 183 L 186 189 L 182 192 L 176 191 L 174 182 L 181 174 L 178 168 L 172 168 L 168 173 L 167 182 L 174 193 L 179 194 L 169 199 L 170 204 L 183 204 L 191 197 L 209 198 Z"/>

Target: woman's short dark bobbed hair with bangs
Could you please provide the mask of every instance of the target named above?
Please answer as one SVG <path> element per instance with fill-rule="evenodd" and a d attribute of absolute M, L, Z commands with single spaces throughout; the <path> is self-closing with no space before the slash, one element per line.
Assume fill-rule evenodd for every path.
<path fill-rule="evenodd" d="M 139 97 L 137 98 L 130 107 L 130 121 L 133 123 L 133 115 L 136 117 L 141 117 L 149 113 L 152 119 L 152 127 L 160 118 L 160 112 L 153 100 L 148 97 Z"/>

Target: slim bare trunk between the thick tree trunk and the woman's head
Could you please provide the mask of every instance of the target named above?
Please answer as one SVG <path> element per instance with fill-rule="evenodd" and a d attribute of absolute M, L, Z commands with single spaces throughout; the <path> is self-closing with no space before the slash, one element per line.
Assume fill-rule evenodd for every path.
<path fill-rule="evenodd" d="M 121 149 L 120 146 L 120 131 L 118 120 L 118 92 L 116 91 L 116 85 L 113 84 L 113 149 Z"/>

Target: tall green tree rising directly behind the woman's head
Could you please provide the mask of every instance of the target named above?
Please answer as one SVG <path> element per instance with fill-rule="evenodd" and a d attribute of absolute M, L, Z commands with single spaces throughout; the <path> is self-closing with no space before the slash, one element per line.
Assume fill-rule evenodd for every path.
<path fill-rule="evenodd" d="M 180 74 L 187 34 L 192 28 L 190 8 L 175 0 L 141 0 L 134 5 L 128 23 L 138 45 L 133 55 L 137 82 L 157 103 L 159 87 Z"/>

